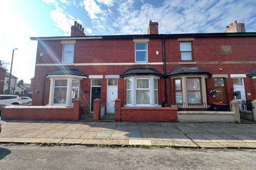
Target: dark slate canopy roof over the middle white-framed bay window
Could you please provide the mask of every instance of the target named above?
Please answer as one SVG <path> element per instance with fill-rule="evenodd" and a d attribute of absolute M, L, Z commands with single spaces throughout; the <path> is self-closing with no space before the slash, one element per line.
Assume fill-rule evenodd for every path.
<path fill-rule="evenodd" d="M 125 72 L 120 74 L 120 77 L 127 77 L 129 75 L 158 75 L 160 77 L 163 76 L 163 73 L 153 69 L 153 68 L 145 68 L 145 67 L 135 67 L 126 70 Z"/>

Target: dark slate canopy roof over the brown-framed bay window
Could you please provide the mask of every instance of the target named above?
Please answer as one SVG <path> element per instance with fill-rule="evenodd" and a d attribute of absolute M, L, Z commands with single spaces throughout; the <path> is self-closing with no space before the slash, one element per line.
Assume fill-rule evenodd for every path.
<path fill-rule="evenodd" d="M 210 72 L 204 71 L 199 67 L 178 67 L 171 70 L 167 73 L 167 76 L 174 76 L 174 75 L 187 75 L 187 74 L 206 74 L 211 76 Z"/>

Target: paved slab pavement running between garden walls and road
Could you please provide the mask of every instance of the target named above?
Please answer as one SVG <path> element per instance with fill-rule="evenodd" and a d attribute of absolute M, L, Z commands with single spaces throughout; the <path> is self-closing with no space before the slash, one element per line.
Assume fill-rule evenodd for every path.
<path fill-rule="evenodd" d="M 256 124 L 2 121 L 0 143 L 256 148 Z"/>

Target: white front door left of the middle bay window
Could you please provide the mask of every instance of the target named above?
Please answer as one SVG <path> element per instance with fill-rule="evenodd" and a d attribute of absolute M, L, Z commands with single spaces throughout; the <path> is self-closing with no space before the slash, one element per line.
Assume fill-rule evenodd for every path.
<path fill-rule="evenodd" d="M 115 99 L 117 99 L 117 79 L 108 79 L 107 114 L 115 113 Z"/>

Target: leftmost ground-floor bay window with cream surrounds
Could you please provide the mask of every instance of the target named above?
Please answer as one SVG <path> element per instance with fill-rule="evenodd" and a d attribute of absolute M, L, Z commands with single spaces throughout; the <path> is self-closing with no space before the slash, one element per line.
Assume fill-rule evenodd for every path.
<path fill-rule="evenodd" d="M 56 77 L 50 78 L 49 105 L 70 106 L 79 98 L 80 78 Z"/>

